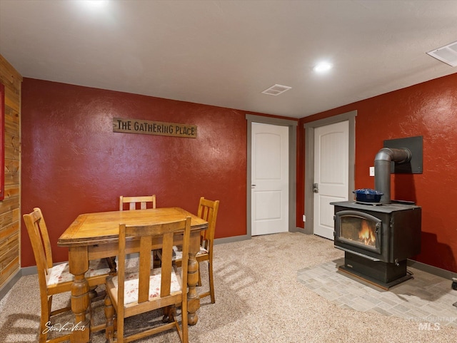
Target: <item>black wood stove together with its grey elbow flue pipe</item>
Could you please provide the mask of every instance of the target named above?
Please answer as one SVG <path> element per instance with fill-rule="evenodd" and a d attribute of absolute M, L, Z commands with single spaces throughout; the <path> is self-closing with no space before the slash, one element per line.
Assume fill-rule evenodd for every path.
<path fill-rule="evenodd" d="M 421 160 L 422 138 L 394 143 L 411 148 L 385 147 L 376 154 L 374 186 L 382 194 L 379 203 L 331 203 L 335 206 L 334 246 L 345 255 L 340 270 L 384 289 L 410 279 L 407 260 L 421 252 L 421 208 L 391 200 L 391 170 L 396 163 L 411 167 L 413 157 Z"/>

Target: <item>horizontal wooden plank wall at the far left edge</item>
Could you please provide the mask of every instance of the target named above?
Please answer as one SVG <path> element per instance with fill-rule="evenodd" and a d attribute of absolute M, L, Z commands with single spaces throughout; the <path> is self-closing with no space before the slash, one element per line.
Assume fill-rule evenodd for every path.
<path fill-rule="evenodd" d="M 0 201 L 0 289 L 21 265 L 21 83 L 22 76 L 0 55 L 5 87 L 5 198 Z"/>

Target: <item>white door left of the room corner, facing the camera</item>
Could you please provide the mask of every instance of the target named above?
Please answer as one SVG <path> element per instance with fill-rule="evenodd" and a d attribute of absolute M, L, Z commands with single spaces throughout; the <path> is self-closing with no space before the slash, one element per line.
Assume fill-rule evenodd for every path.
<path fill-rule="evenodd" d="M 251 235 L 288 231 L 288 126 L 252 123 Z"/>

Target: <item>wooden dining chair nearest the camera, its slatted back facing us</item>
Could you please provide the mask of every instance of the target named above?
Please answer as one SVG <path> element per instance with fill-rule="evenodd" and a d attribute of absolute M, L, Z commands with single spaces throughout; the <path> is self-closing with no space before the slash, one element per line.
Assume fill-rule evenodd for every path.
<path fill-rule="evenodd" d="M 186 258 L 179 275 L 173 262 L 174 235 L 181 233 Z M 109 342 L 131 342 L 169 329 L 176 329 L 182 343 L 189 342 L 187 327 L 187 264 L 191 235 L 191 217 L 176 222 L 156 225 L 119 225 L 118 274 L 106 279 L 106 339 Z M 126 242 L 138 240 L 134 252 L 139 252 L 139 263 L 126 267 Z M 152 268 L 151 249 L 162 242 L 162 264 Z M 176 317 L 176 306 L 181 306 L 181 326 Z M 124 337 L 127 331 L 124 319 L 136 314 L 166 309 L 168 321 Z M 116 313 L 116 316 L 114 314 Z M 132 322 L 135 323 L 135 322 Z M 116 334 L 115 334 L 116 331 Z"/>

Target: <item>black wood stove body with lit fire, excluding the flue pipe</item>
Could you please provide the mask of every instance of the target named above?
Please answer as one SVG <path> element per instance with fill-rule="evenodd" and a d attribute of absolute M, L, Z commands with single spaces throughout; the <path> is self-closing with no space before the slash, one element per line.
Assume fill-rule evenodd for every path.
<path fill-rule="evenodd" d="M 343 272 L 388 289 L 411 278 L 407 259 L 421 252 L 421 208 L 349 201 L 335 206 L 334 245 L 344 250 Z"/>

